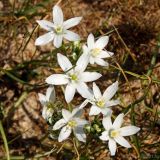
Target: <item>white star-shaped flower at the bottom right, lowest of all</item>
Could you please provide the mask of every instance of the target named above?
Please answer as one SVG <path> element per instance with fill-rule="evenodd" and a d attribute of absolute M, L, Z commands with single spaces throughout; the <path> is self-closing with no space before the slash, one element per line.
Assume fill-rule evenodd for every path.
<path fill-rule="evenodd" d="M 140 130 L 140 128 L 136 126 L 126 126 L 121 128 L 123 117 L 123 113 L 119 114 L 113 124 L 111 116 L 103 118 L 102 121 L 105 131 L 102 132 L 100 139 L 103 141 L 109 141 L 108 146 L 112 156 L 116 153 L 116 142 L 123 147 L 130 148 L 131 145 L 124 137 L 136 134 Z"/>

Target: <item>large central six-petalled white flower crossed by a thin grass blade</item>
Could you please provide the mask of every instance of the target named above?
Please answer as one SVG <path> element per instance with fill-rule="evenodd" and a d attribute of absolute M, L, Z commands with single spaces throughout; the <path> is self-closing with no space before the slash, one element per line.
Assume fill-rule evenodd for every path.
<path fill-rule="evenodd" d="M 97 80 L 101 77 L 101 74 L 97 72 L 84 72 L 88 64 L 88 56 L 84 54 L 80 56 L 75 67 L 72 66 L 66 56 L 60 53 L 57 54 L 57 59 L 65 73 L 53 74 L 46 79 L 46 82 L 52 85 L 67 85 L 65 88 L 65 99 L 67 103 L 73 99 L 76 90 L 82 97 L 90 97 L 91 93 L 86 82 Z"/>

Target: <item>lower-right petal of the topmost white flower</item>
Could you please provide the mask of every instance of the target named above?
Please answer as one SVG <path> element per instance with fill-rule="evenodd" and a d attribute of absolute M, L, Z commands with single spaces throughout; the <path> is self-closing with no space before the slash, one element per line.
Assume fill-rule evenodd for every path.
<path fill-rule="evenodd" d="M 74 33 L 72 31 L 66 30 L 64 34 L 64 38 L 68 41 L 79 41 L 80 37 L 77 33 Z"/>

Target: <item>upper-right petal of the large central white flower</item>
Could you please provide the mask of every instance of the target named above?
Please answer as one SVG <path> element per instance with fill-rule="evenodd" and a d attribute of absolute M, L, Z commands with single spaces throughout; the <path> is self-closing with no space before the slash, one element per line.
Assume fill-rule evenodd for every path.
<path fill-rule="evenodd" d="M 75 70 L 79 72 L 83 72 L 86 69 L 88 62 L 89 62 L 89 55 L 82 54 L 76 63 Z"/>

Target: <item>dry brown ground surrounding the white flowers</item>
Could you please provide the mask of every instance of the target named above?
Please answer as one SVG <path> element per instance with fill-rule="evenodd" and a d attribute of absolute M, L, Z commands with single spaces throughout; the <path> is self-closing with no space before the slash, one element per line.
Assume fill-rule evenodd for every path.
<path fill-rule="evenodd" d="M 33 157 L 38 153 L 51 150 L 55 145 L 54 141 L 50 139 L 40 141 L 47 133 L 48 126 L 41 117 L 42 106 L 37 99 L 37 92 L 45 92 L 46 87 L 22 84 L 11 78 L 8 72 L 2 70 L 5 69 L 30 84 L 44 83 L 45 77 L 53 72 L 53 69 L 49 68 L 53 66 L 50 64 L 51 62 L 42 62 L 42 67 L 33 63 L 34 60 L 45 56 L 53 47 L 46 45 L 43 48 L 36 48 L 35 38 L 43 31 L 36 29 L 33 35 L 31 33 L 36 26 L 36 19 L 48 14 L 47 19 L 51 19 L 51 8 L 55 2 L 51 0 L 50 3 L 46 2 L 46 9 L 38 8 L 36 11 L 26 9 L 26 12 L 15 12 L 15 15 L 11 12 L 13 2 L 14 0 L 0 2 L 0 14 L 2 15 L 0 16 L 0 105 L 5 113 L 3 125 L 7 140 L 11 141 L 9 143 L 10 154 Z M 42 1 L 34 0 L 23 5 L 32 8 L 33 5 L 36 6 L 40 2 Z M 17 0 L 15 11 L 23 5 Z M 109 51 L 115 53 L 115 57 L 110 61 L 112 65 L 116 66 L 116 60 L 124 70 L 142 76 L 147 74 L 149 79 L 154 77 L 160 80 L 160 49 L 157 50 L 157 39 L 160 36 L 159 0 L 66 0 L 61 2 L 61 6 L 66 19 L 72 17 L 73 14 L 74 16 L 83 16 L 82 23 L 75 28 L 83 39 L 90 32 L 98 37 L 113 30 L 107 47 Z M 114 27 L 117 28 L 118 33 Z M 150 74 L 148 70 L 155 52 L 156 63 L 153 64 L 154 69 Z M 124 61 L 127 54 L 129 56 Z M 25 63 L 30 60 L 31 63 Z M 54 61 L 55 59 L 53 57 L 50 60 Z M 19 64 L 25 64 L 25 66 Z M 117 71 L 112 66 L 111 68 L 111 71 L 104 72 L 103 78 L 99 81 L 99 85 L 103 84 L 102 88 L 108 86 L 117 76 Z M 129 75 L 127 78 L 131 89 L 129 89 L 123 74 L 119 75 L 121 105 L 115 110 L 115 113 L 118 114 L 135 99 L 139 99 L 145 94 L 146 88 L 149 88 L 149 94 L 144 101 L 135 105 L 136 125 L 141 127 L 138 140 L 141 143 L 140 151 L 144 155 L 144 159 L 160 159 L 160 83 L 144 82 Z M 29 93 L 25 95 L 25 91 L 28 90 Z M 22 97 L 22 101 L 19 99 L 20 97 Z M 63 98 L 63 95 L 61 97 Z M 12 110 L 13 104 L 17 101 L 20 102 L 19 105 Z M 130 118 L 127 118 L 126 121 L 129 123 Z M 4 157 L 5 150 L 2 139 L 0 139 L 0 144 L 0 157 Z M 111 159 L 108 150 L 98 150 L 100 145 L 96 142 L 93 142 L 92 145 L 96 147 L 88 146 L 87 151 L 81 149 L 81 153 L 86 154 L 85 152 L 87 152 L 90 159 Z M 73 157 L 73 154 L 68 156 Z M 64 152 L 58 156 L 52 155 L 43 159 L 52 160 L 54 159 L 52 157 L 67 159 Z M 115 159 L 137 159 L 137 153 L 134 149 L 128 152 L 120 147 Z"/>

